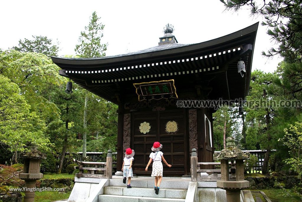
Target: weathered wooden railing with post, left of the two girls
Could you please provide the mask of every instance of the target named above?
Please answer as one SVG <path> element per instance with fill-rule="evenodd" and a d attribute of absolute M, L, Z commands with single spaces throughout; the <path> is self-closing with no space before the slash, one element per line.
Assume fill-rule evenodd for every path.
<path fill-rule="evenodd" d="M 112 179 L 113 163 L 111 150 L 108 150 L 106 162 L 78 161 L 76 159 L 73 159 L 73 161 L 79 164 L 79 166 L 75 166 L 75 169 L 79 169 L 79 173 L 76 174 L 76 177 Z M 94 167 L 84 167 L 87 165 L 94 165 Z M 84 171 L 87 171 L 87 173 L 84 173 Z"/>

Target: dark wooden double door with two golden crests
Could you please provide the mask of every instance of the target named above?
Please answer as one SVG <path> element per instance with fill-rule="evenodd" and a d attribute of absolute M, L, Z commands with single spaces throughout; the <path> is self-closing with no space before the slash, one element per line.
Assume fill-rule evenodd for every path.
<path fill-rule="evenodd" d="M 169 121 L 177 123 L 177 131 L 166 131 L 166 124 Z M 146 132 L 146 134 L 139 128 L 141 124 L 144 125 L 144 122 L 149 123 L 148 125 L 150 126 L 149 132 Z M 134 174 L 151 174 L 152 163 L 149 166 L 148 172 L 145 171 L 145 167 L 149 161 L 151 147 L 155 141 L 159 141 L 163 145 L 161 151 L 164 153 L 168 164 L 172 165 L 169 168 L 163 163 L 164 175 L 187 174 L 188 149 L 185 110 L 133 112 L 131 123 L 131 145 L 135 151 L 133 161 Z"/>

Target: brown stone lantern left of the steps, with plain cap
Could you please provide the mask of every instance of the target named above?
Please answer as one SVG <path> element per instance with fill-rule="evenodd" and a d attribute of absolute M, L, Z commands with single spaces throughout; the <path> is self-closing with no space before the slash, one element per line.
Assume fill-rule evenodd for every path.
<path fill-rule="evenodd" d="M 32 148 L 22 157 L 24 157 L 23 173 L 20 173 L 19 177 L 25 180 L 24 202 L 32 202 L 35 199 L 36 181 L 43 177 L 40 173 L 41 159 L 46 157 L 36 148 Z"/>

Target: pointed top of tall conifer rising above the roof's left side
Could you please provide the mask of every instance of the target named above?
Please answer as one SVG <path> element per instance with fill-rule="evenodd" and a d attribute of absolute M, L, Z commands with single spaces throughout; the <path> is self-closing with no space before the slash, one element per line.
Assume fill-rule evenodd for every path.
<path fill-rule="evenodd" d="M 105 56 L 108 44 L 101 44 L 103 37 L 104 26 L 96 14 L 92 13 L 88 26 L 85 26 L 85 31 L 81 31 L 79 44 L 76 45 L 75 51 L 81 58 L 94 58 Z"/>

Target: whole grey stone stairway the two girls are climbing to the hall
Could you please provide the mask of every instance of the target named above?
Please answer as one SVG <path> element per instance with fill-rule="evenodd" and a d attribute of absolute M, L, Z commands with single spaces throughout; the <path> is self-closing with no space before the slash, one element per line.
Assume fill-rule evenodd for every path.
<path fill-rule="evenodd" d="M 153 178 L 132 180 L 131 186 L 132 188 L 127 188 L 122 180 L 112 180 L 109 186 L 104 187 L 103 194 L 98 196 L 98 202 L 185 201 L 188 182 L 162 182 L 158 195 L 155 194 Z"/>

